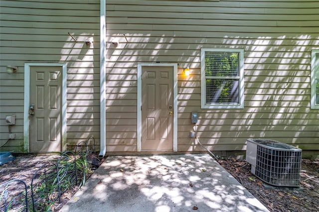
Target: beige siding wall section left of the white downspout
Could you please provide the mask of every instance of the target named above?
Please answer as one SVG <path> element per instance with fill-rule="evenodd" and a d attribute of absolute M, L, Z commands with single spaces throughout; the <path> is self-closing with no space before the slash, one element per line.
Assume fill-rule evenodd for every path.
<path fill-rule="evenodd" d="M 67 63 L 67 144 L 100 137 L 100 1 L 1 0 L 0 146 L 7 141 L 5 116 L 16 124 L 1 151 L 23 152 L 24 63 Z M 75 42 L 68 33 L 76 39 Z M 94 41 L 87 46 L 85 41 Z M 7 65 L 17 66 L 12 75 Z"/>

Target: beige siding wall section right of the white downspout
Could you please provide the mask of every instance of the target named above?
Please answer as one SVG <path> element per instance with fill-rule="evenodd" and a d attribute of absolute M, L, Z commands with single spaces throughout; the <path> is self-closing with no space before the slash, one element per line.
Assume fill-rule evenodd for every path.
<path fill-rule="evenodd" d="M 178 63 L 178 151 L 203 150 L 189 138 L 191 112 L 210 150 L 245 150 L 257 137 L 319 150 L 319 112 L 310 108 L 318 0 L 107 0 L 107 41 L 107 151 L 137 151 L 142 62 Z M 243 109 L 201 109 L 201 48 L 244 49 Z"/>

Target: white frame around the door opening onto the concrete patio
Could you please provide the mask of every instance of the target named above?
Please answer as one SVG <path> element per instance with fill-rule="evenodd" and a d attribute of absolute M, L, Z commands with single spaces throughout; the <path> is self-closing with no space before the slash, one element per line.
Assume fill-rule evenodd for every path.
<path fill-rule="evenodd" d="M 173 151 L 177 152 L 177 63 L 138 63 L 137 151 L 142 151 L 142 67 L 173 67 Z"/>

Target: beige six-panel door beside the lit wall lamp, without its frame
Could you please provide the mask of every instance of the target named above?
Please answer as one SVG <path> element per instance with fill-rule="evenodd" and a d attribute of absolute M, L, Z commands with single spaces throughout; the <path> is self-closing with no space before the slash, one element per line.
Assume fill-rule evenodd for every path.
<path fill-rule="evenodd" d="M 142 150 L 173 150 L 173 67 L 142 67 Z"/>

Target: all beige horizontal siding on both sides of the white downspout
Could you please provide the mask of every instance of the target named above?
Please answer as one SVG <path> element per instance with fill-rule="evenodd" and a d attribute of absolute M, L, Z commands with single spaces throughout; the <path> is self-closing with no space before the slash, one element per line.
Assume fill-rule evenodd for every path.
<path fill-rule="evenodd" d="M 202 150 L 188 137 L 192 111 L 199 113 L 200 140 L 211 150 L 245 149 L 249 137 L 318 150 L 318 111 L 310 109 L 317 0 L 107 0 L 106 8 L 108 151 L 137 150 L 138 62 L 179 64 L 179 151 Z M 1 0 L 0 10 L 1 143 L 5 115 L 15 113 L 18 139 L 12 143 L 23 146 L 24 62 L 68 62 L 68 144 L 91 135 L 99 143 L 99 0 Z M 83 43 L 91 38 L 88 49 Z M 200 48 L 244 48 L 244 109 L 200 108 Z M 6 65 L 19 70 L 7 75 Z"/>

